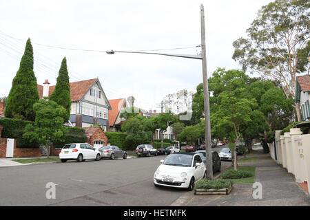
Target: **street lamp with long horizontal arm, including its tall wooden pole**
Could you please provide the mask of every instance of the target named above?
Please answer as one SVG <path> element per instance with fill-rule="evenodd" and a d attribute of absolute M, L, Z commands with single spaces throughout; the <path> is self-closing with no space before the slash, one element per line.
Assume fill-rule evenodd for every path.
<path fill-rule="evenodd" d="M 133 51 L 106 51 L 107 54 L 115 53 L 130 53 L 130 54 L 155 54 L 163 56 L 175 56 L 180 58 L 192 58 L 203 61 L 203 90 L 204 90 L 204 104 L 205 104 L 205 140 L 206 140 L 206 167 L 207 167 L 207 178 L 213 179 L 212 169 L 212 155 L 211 155 L 211 124 L 210 124 L 210 107 L 209 107 L 209 88 L 208 88 L 208 77 L 207 77 L 207 57 L 205 51 L 205 10 L 203 4 L 200 5 L 200 24 L 201 24 L 201 55 L 188 55 L 188 54 L 163 54 L 154 52 L 133 52 Z"/>

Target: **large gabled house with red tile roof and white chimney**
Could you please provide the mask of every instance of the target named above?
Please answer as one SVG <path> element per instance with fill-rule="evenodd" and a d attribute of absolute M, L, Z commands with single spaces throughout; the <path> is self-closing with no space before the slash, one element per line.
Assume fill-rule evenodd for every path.
<path fill-rule="evenodd" d="M 49 97 L 55 86 L 48 80 L 38 85 L 40 98 Z M 101 124 L 106 131 L 109 126 L 111 105 L 98 78 L 70 83 L 71 113 L 70 123 L 73 126 L 90 127 Z"/>

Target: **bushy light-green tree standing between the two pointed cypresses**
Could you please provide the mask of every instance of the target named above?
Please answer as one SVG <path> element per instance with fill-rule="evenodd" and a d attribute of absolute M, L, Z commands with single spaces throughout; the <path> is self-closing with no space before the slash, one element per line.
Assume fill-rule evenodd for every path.
<path fill-rule="evenodd" d="M 53 142 L 59 142 L 65 138 L 68 129 L 63 126 L 63 118 L 66 117 L 65 108 L 54 101 L 39 100 L 34 104 L 34 124 L 25 126 L 23 138 L 30 142 L 38 142 L 45 146 L 49 158 L 50 146 Z"/>

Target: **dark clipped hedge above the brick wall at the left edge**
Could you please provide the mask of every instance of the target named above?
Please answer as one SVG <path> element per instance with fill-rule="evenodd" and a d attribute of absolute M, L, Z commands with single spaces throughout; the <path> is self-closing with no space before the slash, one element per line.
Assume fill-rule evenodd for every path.
<path fill-rule="evenodd" d="M 17 147 L 39 148 L 37 142 L 30 143 L 28 140 L 23 139 L 25 126 L 27 124 L 34 124 L 34 122 L 15 118 L 0 118 L 0 124 L 3 126 L 1 137 L 16 139 Z"/>

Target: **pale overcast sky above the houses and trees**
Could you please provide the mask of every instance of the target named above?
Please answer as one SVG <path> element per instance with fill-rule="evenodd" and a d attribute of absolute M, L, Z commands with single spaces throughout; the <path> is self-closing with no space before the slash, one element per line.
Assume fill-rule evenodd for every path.
<path fill-rule="evenodd" d="M 8 96 L 30 38 L 39 85 L 45 79 L 56 84 L 66 57 L 70 82 L 98 77 L 109 100 L 134 96 L 136 107 L 159 111 L 159 103 L 167 94 L 181 89 L 196 91 L 203 82 L 201 61 L 147 54 L 109 55 L 105 51 L 163 50 L 158 52 L 197 55 L 202 3 L 208 77 L 218 67 L 240 69 L 231 58 L 232 43 L 246 36 L 258 10 L 269 2 L 0 0 L 0 97 Z M 167 50 L 175 48 L 185 49 Z"/>

